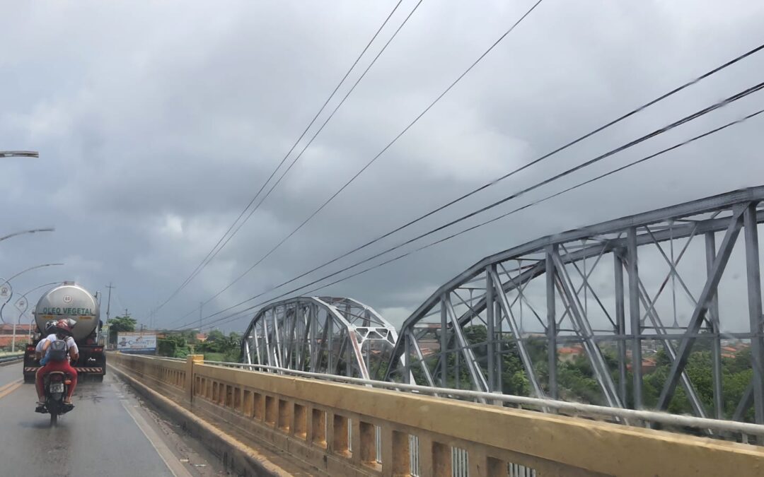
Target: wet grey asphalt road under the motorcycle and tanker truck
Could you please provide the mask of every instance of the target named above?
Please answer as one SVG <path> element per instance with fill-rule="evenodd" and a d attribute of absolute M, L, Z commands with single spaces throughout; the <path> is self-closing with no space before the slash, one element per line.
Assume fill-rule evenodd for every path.
<path fill-rule="evenodd" d="M 34 385 L 11 384 L 20 378 L 21 364 L 0 367 L 0 477 L 175 475 L 138 427 L 138 402 L 111 375 L 80 383 L 57 427 L 34 412 Z"/>

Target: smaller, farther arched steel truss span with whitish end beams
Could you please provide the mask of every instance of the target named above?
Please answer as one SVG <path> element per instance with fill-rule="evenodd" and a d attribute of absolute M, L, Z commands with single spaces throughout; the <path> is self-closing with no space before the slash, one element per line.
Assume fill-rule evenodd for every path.
<path fill-rule="evenodd" d="M 298 297 L 257 311 L 241 356 L 249 364 L 381 379 L 396 341 L 393 325 L 352 298 Z"/>

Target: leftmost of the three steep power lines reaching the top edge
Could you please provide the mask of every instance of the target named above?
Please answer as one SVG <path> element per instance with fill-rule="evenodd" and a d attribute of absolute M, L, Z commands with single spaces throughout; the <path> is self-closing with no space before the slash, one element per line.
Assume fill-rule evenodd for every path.
<path fill-rule="evenodd" d="M 374 36 L 371 37 L 371 40 L 369 40 L 369 42 L 366 44 L 366 47 L 364 47 L 364 50 L 362 50 L 361 54 L 358 55 L 358 58 L 355 59 L 355 61 L 351 65 L 351 67 L 348 69 L 347 73 L 345 73 L 345 76 L 342 76 L 342 79 L 335 86 L 335 89 L 332 90 L 332 94 L 329 95 L 329 98 L 326 98 L 326 101 L 321 106 L 319 111 L 316 113 L 315 116 L 313 116 L 312 120 L 307 125 L 307 127 L 305 128 L 303 133 L 299 135 L 299 137 L 297 138 L 295 143 L 290 148 L 289 152 L 287 152 L 286 155 L 283 156 L 283 159 L 278 164 L 278 166 L 276 166 L 274 171 L 270 173 L 270 176 L 268 176 L 268 179 L 266 179 L 266 181 L 263 182 L 263 185 L 261 185 L 260 189 L 254 195 L 252 200 L 249 201 L 247 206 L 244 207 L 244 210 L 241 211 L 241 213 L 238 215 L 236 220 L 233 221 L 233 223 L 231 224 L 230 227 L 228 227 L 228 230 L 225 231 L 225 234 L 223 234 L 222 237 L 220 237 L 220 239 L 218 240 L 218 242 L 215 243 L 215 247 L 212 247 L 212 249 L 209 251 L 209 253 L 207 253 L 207 255 L 204 257 L 204 259 L 202 259 L 202 261 L 199 263 L 199 265 L 197 265 L 196 268 L 193 269 L 193 272 L 191 272 L 191 274 L 185 280 L 183 280 L 183 282 L 180 284 L 180 286 L 178 288 L 176 288 L 176 290 L 170 294 L 170 297 L 168 297 L 165 301 L 163 301 L 163 303 L 161 305 L 159 305 L 155 311 L 159 311 L 160 308 L 162 308 L 164 305 L 167 305 L 167 303 L 170 300 L 172 300 L 181 290 L 183 290 L 183 288 L 186 288 L 186 285 L 188 285 L 194 278 L 196 278 L 197 275 L 199 275 L 199 272 L 201 272 L 202 269 L 204 269 L 207 266 L 207 264 L 209 264 L 209 262 L 212 261 L 213 258 L 215 258 L 215 255 L 217 255 L 220 252 L 220 250 L 222 250 L 222 248 L 225 247 L 225 244 L 228 243 L 228 240 L 231 240 L 231 237 L 233 237 L 236 234 L 236 232 L 238 232 L 238 228 L 237 228 L 236 231 L 233 234 L 231 234 L 231 237 L 228 237 L 228 240 L 225 240 L 225 243 L 223 243 L 223 245 L 220 246 L 220 244 L 225 239 L 225 237 L 231 232 L 231 230 L 235 227 L 235 225 L 238 223 L 238 221 L 241 220 L 242 217 L 244 217 L 244 214 L 248 211 L 248 209 L 252 206 L 252 204 L 254 204 L 254 201 L 257 200 L 257 196 L 260 195 L 261 192 L 263 192 L 263 190 L 265 189 L 265 186 L 267 185 L 267 183 L 270 182 L 270 179 L 274 178 L 274 176 L 276 175 L 276 172 L 278 172 L 280 167 L 283 166 L 283 163 L 286 162 L 286 158 L 289 157 L 290 154 L 295 150 L 295 148 L 297 147 L 297 144 L 299 144 L 299 141 L 303 140 L 303 137 L 305 137 L 305 135 L 308 133 L 310 127 L 312 127 L 312 125 L 316 122 L 316 119 L 319 118 L 319 115 L 324 111 L 324 109 L 326 108 L 326 105 L 329 105 L 329 102 L 332 100 L 332 98 L 334 98 L 334 95 L 337 93 L 337 91 L 340 88 L 340 86 L 342 86 L 342 83 L 345 82 L 345 79 L 347 79 L 348 76 L 350 76 L 350 73 L 353 71 L 355 66 L 358 65 L 358 62 L 361 60 L 361 57 L 364 56 L 364 53 L 366 53 L 366 51 L 369 49 L 369 47 L 371 47 L 371 44 L 374 43 L 374 40 L 380 34 L 380 32 L 382 31 L 384 26 L 387 24 L 388 21 L 390 21 L 390 18 L 393 16 L 395 11 L 397 11 L 397 9 L 400 6 L 401 2 L 403 2 L 403 0 L 399 0 L 398 1 L 398 3 L 395 5 L 395 7 L 393 7 L 393 10 L 390 11 L 390 14 L 387 15 L 387 18 L 385 18 L 384 22 L 382 22 L 380 27 L 377 28 L 377 31 L 374 33 Z M 421 3 L 421 0 L 420 0 L 420 3 Z M 419 6 L 419 5 L 417 4 L 417 6 Z M 400 30 L 400 28 L 399 28 L 399 30 Z M 377 55 L 377 57 L 378 56 L 379 55 Z M 376 58 L 374 60 L 376 61 Z M 374 64 L 374 62 L 372 62 L 371 64 Z M 369 68 L 371 68 L 371 65 L 369 66 Z M 368 70 L 368 68 L 367 68 L 367 70 Z M 358 84 L 358 82 L 356 84 Z M 347 96 L 345 98 L 347 98 Z M 345 99 L 343 99 L 342 101 L 344 102 Z M 332 114 L 334 114 L 334 113 L 332 113 Z M 315 139 L 315 137 L 314 137 L 314 139 Z M 270 191 L 268 193 L 270 194 Z M 251 216 L 251 214 L 250 214 L 250 216 Z M 244 222 L 245 221 L 247 221 L 247 219 L 244 219 Z M 244 224 L 244 222 L 242 222 L 241 224 Z M 239 228 L 241 228 L 241 225 L 239 226 Z M 220 248 L 218 248 L 219 246 L 220 246 Z M 215 251 L 215 249 L 217 249 L 217 251 Z M 214 254 L 213 254 L 213 252 L 214 252 Z"/>

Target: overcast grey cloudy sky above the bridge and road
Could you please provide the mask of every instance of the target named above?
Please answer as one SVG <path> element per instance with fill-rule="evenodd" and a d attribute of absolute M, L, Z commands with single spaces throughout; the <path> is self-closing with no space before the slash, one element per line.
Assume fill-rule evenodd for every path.
<path fill-rule="evenodd" d="M 44 226 L 56 231 L 0 243 L 0 276 L 63 262 L 19 277 L 15 292 L 75 279 L 106 293 L 113 282 L 112 315 L 129 308 L 148 324 L 151 308 L 228 229 L 395 3 L 2 2 L 0 150 L 39 150 L 40 158 L 0 160 L 0 235 Z M 351 81 L 415 5 L 402 2 Z M 422 2 L 283 182 L 155 324 L 173 327 L 198 317 L 180 320 L 289 234 L 531 5 Z M 312 269 L 758 46 L 762 24 L 764 3 L 751 0 L 545 0 L 204 314 Z M 759 53 L 384 244 L 740 92 L 762 73 Z M 756 111 L 762 95 L 485 217 Z M 571 227 L 761 185 L 762 125 L 754 119 L 321 293 L 351 296 L 400 324 L 483 256 Z M 357 258 L 378 250 L 381 244 Z M 34 302 L 38 295 L 30 296 Z M 247 321 L 220 326 L 243 330 Z"/>

